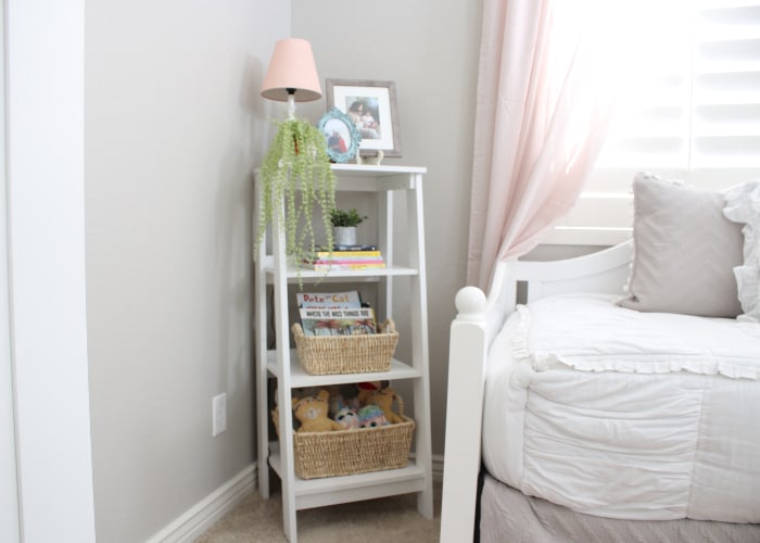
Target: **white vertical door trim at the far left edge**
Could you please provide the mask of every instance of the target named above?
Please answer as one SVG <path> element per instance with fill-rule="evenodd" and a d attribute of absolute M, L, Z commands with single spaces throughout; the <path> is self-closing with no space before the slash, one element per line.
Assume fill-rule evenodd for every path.
<path fill-rule="evenodd" d="M 4 0 L 3 12 L 9 280 L 0 274 L 0 282 L 10 319 L 0 285 L 0 359 L 10 326 L 12 369 L 3 361 L 0 377 L 10 370 L 15 402 L 14 428 L 0 435 L 14 431 L 21 540 L 89 543 L 85 0 Z M 2 256 L 0 247 L 0 266 Z M 9 462 L 3 455 L 3 473 Z M 0 518 L 12 514 L 3 506 Z"/>

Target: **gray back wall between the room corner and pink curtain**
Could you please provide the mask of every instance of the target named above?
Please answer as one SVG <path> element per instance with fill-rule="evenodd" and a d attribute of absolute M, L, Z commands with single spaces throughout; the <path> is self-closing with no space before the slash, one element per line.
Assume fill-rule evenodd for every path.
<path fill-rule="evenodd" d="M 433 453 L 443 454 L 448 327 L 465 286 L 482 2 L 292 0 L 292 34 L 312 42 L 319 76 L 393 80 L 401 159 L 427 166 L 425 229 Z M 324 100 L 299 106 L 317 121 Z M 401 344 L 400 344 L 401 349 Z"/>

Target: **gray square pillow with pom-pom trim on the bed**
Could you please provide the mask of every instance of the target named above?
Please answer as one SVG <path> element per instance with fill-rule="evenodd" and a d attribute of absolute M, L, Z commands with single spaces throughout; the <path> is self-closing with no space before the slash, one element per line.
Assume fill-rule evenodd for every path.
<path fill-rule="evenodd" d="M 742 313 L 734 267 L 742 225 L 723 216 L 725 197 L 651 174 L 633 179 L 634 257 L 620 305 L 643 312 L 731 317 Z"/>

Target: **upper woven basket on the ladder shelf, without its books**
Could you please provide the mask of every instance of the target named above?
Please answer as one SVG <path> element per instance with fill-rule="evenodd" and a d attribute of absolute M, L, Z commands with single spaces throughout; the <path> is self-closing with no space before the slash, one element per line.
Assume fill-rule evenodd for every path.
<path fill-rule="evenodd" d="M 305 336 L 299 323 L 292 326 L 299 362 L 308 375 L 388 371 L 398 343 L 392 319 L 378 333 L 355 336 Z"/>

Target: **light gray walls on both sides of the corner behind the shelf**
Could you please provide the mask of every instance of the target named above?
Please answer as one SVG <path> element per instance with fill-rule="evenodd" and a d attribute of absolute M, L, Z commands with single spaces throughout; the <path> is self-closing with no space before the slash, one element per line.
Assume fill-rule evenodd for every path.
<path fill-rule="evenodd" d="M 321 79 L 394 80 L 425 188 L 433 452 L 464 286 L 481 2 L 87 3 L 86 242 L 98 541 L 144 541 L 253 462 L 251 172 L 276 39 Z M 346 23 L 349 16 L 354 23 Z M 299 105 L 316 122 L 324 100 Z M 228 395 L 211 435 L 212 397 Z"/>

